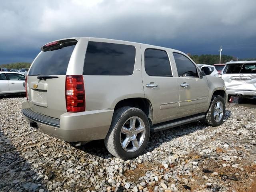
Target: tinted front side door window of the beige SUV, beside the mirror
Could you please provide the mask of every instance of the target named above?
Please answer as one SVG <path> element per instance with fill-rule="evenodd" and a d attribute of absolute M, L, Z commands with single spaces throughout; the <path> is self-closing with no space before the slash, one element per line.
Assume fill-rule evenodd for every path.
<path fill-rule="evenodd" d="M 179 77 L 198 77 L 196 66 L 184 55 L 173 53 Z"/>

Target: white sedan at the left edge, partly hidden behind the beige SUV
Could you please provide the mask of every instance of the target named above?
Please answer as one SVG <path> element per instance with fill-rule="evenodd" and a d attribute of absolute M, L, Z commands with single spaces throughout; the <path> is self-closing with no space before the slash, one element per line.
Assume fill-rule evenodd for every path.
<path fill-rule="evenodd" d="M 25 75 L 0 71 L 0 95 L 25 93 Z"/>

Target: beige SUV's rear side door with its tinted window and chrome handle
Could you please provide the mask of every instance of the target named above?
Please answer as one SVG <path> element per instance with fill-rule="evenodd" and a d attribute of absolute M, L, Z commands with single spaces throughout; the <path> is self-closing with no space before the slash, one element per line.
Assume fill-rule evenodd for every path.
<path fill-rule="evenodd" d="M 142 80 L 145 97 L 153 108 L 152 123 L 176 118 L 178 113 L 177 78 L 172 76 L 170 57 L 166 50 L 142 45 Z"/>

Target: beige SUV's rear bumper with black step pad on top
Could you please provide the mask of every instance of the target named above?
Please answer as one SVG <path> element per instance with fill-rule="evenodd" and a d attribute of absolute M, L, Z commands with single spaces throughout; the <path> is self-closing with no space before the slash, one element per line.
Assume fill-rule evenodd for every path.
<path fill-rule="evenodd" d="M 35 122 L 46 134 L 68 142 L 79 142 L 104 139 L 114 110 L 67 112 L 56 119 L 34 112 L 26 101 L 22 103 L 22 113 L 28 122 Z"/>

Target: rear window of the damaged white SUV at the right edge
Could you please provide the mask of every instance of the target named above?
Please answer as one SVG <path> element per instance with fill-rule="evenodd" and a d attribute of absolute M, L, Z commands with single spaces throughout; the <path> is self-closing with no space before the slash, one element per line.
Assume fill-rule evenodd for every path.
<path fill-rule="evenodd" d="M 250 74 L 256 73 L 256 63 L 253 64 L 228 64 L 224 74 L 243 73 Z"/>

